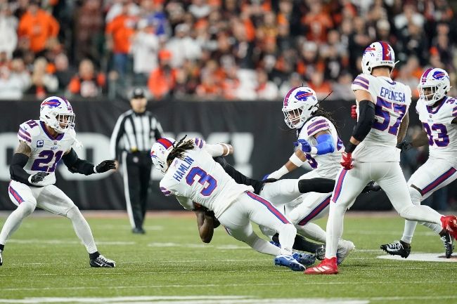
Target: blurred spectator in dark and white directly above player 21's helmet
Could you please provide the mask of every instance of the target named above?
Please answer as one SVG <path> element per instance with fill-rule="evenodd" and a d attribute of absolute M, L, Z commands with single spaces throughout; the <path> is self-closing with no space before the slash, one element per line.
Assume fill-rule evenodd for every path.
<path fill-rule="evenodd" d="M 45 58 L 37 58 L 33 65 L 32 86 L 27 90 L 27 94 L 33 94 L 37 99 L 44 99 L 49 93 L 57 91 L 57 77 L 46 70 L 48 62 Z"/>

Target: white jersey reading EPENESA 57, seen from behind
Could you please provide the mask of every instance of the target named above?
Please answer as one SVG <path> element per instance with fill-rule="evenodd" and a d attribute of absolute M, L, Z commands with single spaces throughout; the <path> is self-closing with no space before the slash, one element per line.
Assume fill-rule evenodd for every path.
<path fill-rule="evenodd" d="M 398 81 L 392 81 L 389 77 L 374 77 L 368 74 L 359 74 L 352 81 L 351 88 L 353 91 L 367 91 L 375 102 L 373 127 L 354 150 L 354 160 L 400 161 L 400 150 L 396 147 L 397 134 L 401 121 L 411 105 L 411 88 Z"/>

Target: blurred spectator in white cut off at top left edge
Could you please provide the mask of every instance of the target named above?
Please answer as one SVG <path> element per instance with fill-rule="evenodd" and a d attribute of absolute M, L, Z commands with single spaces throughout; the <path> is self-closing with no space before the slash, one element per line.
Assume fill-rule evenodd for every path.
<path fill-rule="evenodd" d="M 18 45 L 18 19 L 11 15 L 8 4 L 0 4 L 0 52 L 11 58 Z"/>

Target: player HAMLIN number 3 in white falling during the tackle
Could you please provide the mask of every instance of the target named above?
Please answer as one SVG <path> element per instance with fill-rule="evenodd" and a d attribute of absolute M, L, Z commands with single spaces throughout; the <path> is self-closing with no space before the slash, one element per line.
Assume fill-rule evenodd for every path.
<path fill-rule="evenodd" d="M 165 195 L 174 194 L 185 209 L 194 209 L 195 202 L 213 211 L 232 237 L 256 251 L 276 256 L 276 265 L 304 270 L 292 257 L 295 227 L 269 201 L 252 193 L 252 187 L 237 184 L 212 159 L 228 154 L 226 145 L 214 145 L 220 150 L 213 154 L 202 149 L 204 145 L 202 140 L 184 138 L 177 143 L 172 138 L 160 138 L 154 143 L 150 152 L 153 164 L 165 174 L 160 190 Z M 276 230 L 282 248 L 258 237 L 250 220 Z"/>

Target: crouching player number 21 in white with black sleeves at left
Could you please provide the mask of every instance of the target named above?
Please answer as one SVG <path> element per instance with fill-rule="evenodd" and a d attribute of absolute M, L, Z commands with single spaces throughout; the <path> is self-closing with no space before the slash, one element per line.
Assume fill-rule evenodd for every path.
<path fill-rule="evenodd" d="M 18 208 L 8 216 L 0 232 L 0 265 L 6 240 L 18 229 L 22 220 L 39 207 L 70 218 L 77 236 L 86 246 L 92 267 L 115 267 L 113 260 L 98 253 L 91 228 L 78 207 L 53 185 L 60 159 L 72 173 L 86 176 L 115 168 L 114 161 L 102 161 L 94 166 L 79 159 L 72 149 L 72 145 L 78 143 L 74 127 L 72 106 L 65 98 L 56 96 L 41 103 L 39 120 L 29 120 L 20 125 L 19 147 L 11 160 L 11 183 L 8 187 L 11 201 Z"/>

